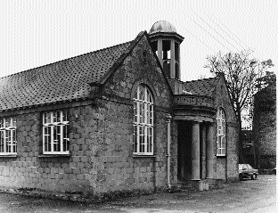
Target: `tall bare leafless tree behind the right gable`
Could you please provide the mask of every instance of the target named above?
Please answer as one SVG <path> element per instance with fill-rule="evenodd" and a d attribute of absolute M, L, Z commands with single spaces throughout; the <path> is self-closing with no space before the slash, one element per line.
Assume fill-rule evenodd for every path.
<path fill-rule="evenodd" d="M 250 99 L 256 92 L 256 79 L 262 75 L 259 62 L 250 58 L 250 52 L 218 53 L 207 57 L 208 68 L 213 74 L 223 73 L 226 86 L 233 102 L 233 109 L 239 123 L 239 158 L 244 163 L 241 142 L 241 111 L 247 108 Z"/>

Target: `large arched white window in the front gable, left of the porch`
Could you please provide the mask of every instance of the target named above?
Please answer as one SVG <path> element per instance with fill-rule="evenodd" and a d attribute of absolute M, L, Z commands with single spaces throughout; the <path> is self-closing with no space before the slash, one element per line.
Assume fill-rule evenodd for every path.
<path fill-rule="evenodd" d="M 139 85 L 134 100 L 134 154 L 153 154 L 153 98 L 147 86 Z"/>

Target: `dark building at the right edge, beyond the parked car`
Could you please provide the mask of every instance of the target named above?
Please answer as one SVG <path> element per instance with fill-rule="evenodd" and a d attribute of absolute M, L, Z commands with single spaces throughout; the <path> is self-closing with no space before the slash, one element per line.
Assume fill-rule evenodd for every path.
<path fill-rule="evenodd" d="M 276 167 L 276 85 L 255 94 L 253 135 L 257 167 Z"/>

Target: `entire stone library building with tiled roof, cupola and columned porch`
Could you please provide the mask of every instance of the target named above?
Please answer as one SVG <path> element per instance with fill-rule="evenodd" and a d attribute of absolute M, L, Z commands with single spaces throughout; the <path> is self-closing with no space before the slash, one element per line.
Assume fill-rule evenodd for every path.
<path fill-rule="evenodd" d="M 0 78 L 1 187 L 100 194 L 237 180 L 225 78 L 181 81 L 183 40 L 162 20 L 125 44 Z"/>

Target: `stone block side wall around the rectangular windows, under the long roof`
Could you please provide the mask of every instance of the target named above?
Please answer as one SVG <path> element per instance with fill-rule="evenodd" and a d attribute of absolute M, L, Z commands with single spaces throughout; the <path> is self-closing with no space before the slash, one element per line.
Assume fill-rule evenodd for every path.
<path fill-rule="evenodd" d="M 1 186 L 94 192 L 97 162 L 94 161 L 93 135 L 101 125 L 99 115 L 90 105 L 59 108 L 69 112 L 70 156 L 43 155 L 41 118 L 44 108 L 13 115 L 17 119 L 18 156 L 0 157 Z M 59 109 L 45 108 L 49 110 Z"/>

